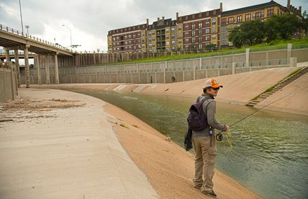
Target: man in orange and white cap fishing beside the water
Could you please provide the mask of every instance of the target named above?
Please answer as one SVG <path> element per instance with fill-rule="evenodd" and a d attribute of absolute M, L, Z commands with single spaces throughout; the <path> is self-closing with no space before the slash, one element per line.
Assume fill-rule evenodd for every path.
<path fill-rule="evenodd" d="M 215 130 L 229 131 L 227 125 L 221 124 L 215 118 L 216 114 L 216 101 L 214 96 L 217 96 L 218 90 L 222 88 L 222 85 L 216 81 L 216 79 L 209 79 L 205 83 L 202 96 L 199 96 L 199 101 L 207 98 L 203 103 L 203 111 L 207 116 L 207 122 L 209 125 L 202 131 L 193 131 L 194 137 L 194 187 L 201 188 L 201 192 L 207 196 L 216 198 L 216 194 L 213 191 L 213 176 L 215 173 L 215 163 L 217 156 L 216 148 L 216 136 Z M 194 102 L 196 103 L 196 101 Z M 203 179 L 204 178 L 204 179 Z"/>

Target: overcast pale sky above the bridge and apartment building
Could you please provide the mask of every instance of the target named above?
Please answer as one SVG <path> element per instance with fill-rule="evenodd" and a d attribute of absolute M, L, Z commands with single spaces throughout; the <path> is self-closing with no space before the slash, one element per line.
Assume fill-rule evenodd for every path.
<path fill-rule="evenodd" d="M 29 34 L 56 42 L 64 47 L 72 43 L 81 45 L 77 51 L 107 51 L 107 34 L 112 29 L 129 27 L 157 21 L 157 17 L 172 18 L 205 12 L 220 8 L 234 10 L 250 5 L 267 3 L 270 0 L 20 0 L 23 18 L 23 31 L 29 25 Z M 277 0 L 286 6 L 287 0 Z M 307 0 L 291 0 L 291 4 L 302 12 L 308 10 Z M 0 0 L 0 24 L 22 30 L 19 0 Z M 62 26 L 66 25 L 66 27 Z M 68 29 L 68 28 L 69 29 Z M 1 46 L 1 44 L 0 44 Z"/>

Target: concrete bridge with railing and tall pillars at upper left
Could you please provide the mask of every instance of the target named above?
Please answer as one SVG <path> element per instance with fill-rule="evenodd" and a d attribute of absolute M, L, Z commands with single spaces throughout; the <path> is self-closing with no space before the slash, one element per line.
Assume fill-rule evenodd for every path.
<path fill-rule="evenodd" d="M 58 66 L 57 66 L 57 56 L 71 56 L 73 57 L 76 53 L 70 51 L 59 44 L 54 44 L 41 38 L 25 34 L 16 29 L 12 29 L 5 25 L 0 24 L 0 47 L 5 50 L 5 59 L 10 61 L 10 51 L 14 50 L 14 59 L 16 63 L 16 70 L 18 76 L 18 85 L 21 85 L 19 79 L 19 54 L 18 50 L 23 50 L 23 57 L 25 58 L 25 73 L 26 73 L 26 87 L 30 86 L 29 77 L 29 53 L 36 53 L 38 55 L 38 73 L 40 77 L 40 55 L 53 56 L 55 63 L 55 83 L 59 83 Z M 47 62 L 47 72 L 49 73 L 49 63 Z M 49 75 L 47 75 L 49 77 Z M 41 80 L 38 80 L 41 84 Z M 47 79 L 47 83 L 50 83 L 50 79 Z"/>

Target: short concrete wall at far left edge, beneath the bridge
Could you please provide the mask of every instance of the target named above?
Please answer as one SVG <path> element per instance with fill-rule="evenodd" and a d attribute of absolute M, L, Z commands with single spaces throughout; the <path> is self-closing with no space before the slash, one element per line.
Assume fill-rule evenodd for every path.
<path fill-rule="evenodd" d="M 6 63 L 10 69 L 0 68 L 0 103 L 13 101 L 18 95 L 16 72 L 12 70 L 12 62 Z"/>

